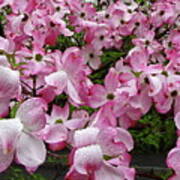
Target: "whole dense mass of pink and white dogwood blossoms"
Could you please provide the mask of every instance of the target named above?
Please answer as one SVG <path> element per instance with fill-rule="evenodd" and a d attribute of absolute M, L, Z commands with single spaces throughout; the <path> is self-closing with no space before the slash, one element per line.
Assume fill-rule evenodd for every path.
<path fill-rule="evenodd" d="M 47 148 L 68 146 L 65 179 L 133 180 L 128 128 L 155 106 L 163 114 L 173 109 L 180 130 L 179 0 L 2 0 L 0 8 L 6 16 L 0 37 L 1 172 L 13 160 L 34 172 Z M 60 35 L 76 42 L 78 33 L 83 44 L 56 48 Z M 94 82 L 108 49 L 122 56 L 103 83 Z M 66 98 L 61 107 L 59 96 Z M 171 180 L 180 178 L 179 141 L 167 158 L 175 171 Z"/>

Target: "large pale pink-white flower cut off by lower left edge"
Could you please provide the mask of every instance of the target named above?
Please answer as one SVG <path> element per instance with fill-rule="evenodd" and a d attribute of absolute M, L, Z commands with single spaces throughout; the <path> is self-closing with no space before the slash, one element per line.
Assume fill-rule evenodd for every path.
<path fill-rule="evenodd" d="M 40 98 L 22 103 L 14 119 L 0 121 L 0 172 L 6 170 L 14 159 L 33 171 L 45 161 L 46 148 L 35 133 L 46 124 L 46 104 Z"/>

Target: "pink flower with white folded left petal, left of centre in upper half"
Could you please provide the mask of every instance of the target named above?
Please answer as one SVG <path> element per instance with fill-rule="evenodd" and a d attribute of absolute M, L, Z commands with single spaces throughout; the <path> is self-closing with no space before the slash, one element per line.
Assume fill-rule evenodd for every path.
<path fill-rule="evenodd" d="M 66 91 L 77 104 L 81 103 L 77 84 L 83 77 L 83 58 L 76 47 L 67 49 L 57 62 L 57 71 L 45 77 L 48 85 L 55 88 L 57 94 Z"/>

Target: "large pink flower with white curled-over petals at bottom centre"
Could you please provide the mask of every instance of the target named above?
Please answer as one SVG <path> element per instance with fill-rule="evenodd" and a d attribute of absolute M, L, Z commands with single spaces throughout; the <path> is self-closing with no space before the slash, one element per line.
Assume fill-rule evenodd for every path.
<path fill-rule="evenodd" d="M 112 131 L 111 131 L 112 130 Z M 107 142 L 112 142 L 112 144 L 108 143 L 106 146 L 106 142 L 103 142 L 102 138 L 107 137 L 107 133 L 111 134 L 115 132 L 115 136 L 111 137 L 107 140 Z M 119 131 L 119 133 L 118 133 Z M 103 154 L 105 155 L 115 155 L 112 154 L 109 150 L 113 146 L 119 146 L 119 150 L 121 149 L 121 143 L 125 143 L 123 138 L 128 138 L 128 144 L 125 145 L 125 149 L 131 150 L 132 141 L 131 137 L 127 134 L 126 130 L 122 129 L 113 129 L 109 128 L 105 131 L 102 131 L 102 134 L 99 134 L 100 131 L 98 128 L 87 128 L 83 130 L 78 130 L 74 134 L 74 153 L 73 153 L 73 161 L 72 167 L 68 174 L 66 175 L 66 179 L 71 180 L 73 178 L 78 179 L 84 177 L 84 179 L 93 179 L 99 180 L 102 178 L 113 179 L 125 179 L 125 174 L 116 167 L 113 167 L 108 161 L 104 160 Z M 123 133 L 125 133 L 123 135 Z M 121 136 L 122 135 L 122 136 Z M 110 137 L 110 136 L 109 136 Z M 130 139 L 129 139 L 130 138 Z M 130 141 L 129 141 L 130 140 Z M 126 141 L 127 142 L 127 141 Z M 129 146 L 130 145 L 130 146 Z M 103 151 L 103 150 L 107 151 Z M 109 149 L 109 150 L 108 150 Z M 121 154 L 122 151 L 117 152 L 116 155 Z"/>

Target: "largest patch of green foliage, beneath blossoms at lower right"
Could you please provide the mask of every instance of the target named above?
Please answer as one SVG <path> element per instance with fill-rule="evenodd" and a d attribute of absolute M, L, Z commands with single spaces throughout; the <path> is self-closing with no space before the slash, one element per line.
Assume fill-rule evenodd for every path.
<path fill-rule="evenodd" d="M 176 141 L 176 129 L 171 114 L 161 115 L 152 109 L 130 129 L 135 140 L 134 152 L 168 152 Z"/>

